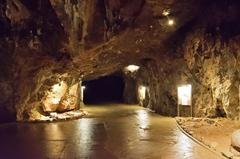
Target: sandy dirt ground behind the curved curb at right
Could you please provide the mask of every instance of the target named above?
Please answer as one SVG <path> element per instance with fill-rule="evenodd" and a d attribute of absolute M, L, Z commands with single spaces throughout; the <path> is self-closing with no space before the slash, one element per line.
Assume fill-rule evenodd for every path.
<path fill-rule="evenodd" d="M 230 152 L 231 136 L 240 129 L 239 121 L 226 118 L 177 118 L 177 121 L 188 134 L 209 148 L 233 155 Z"/>

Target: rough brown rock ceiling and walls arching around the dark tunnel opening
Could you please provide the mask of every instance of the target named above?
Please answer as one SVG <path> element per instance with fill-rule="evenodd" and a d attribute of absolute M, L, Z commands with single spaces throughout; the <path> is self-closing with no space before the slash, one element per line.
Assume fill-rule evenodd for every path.
<path fill-rule="evenodd" d="M 176 115 L 176 87 L 191 82 L 194 115 L 237 118 L 239 10 L 237 0 L 0 0 L 0 121 L 28 120 L 63 79 L 70 88 L 131 63 L 141 69 L 126 90 L 145 85 L 144 106 Z"/>

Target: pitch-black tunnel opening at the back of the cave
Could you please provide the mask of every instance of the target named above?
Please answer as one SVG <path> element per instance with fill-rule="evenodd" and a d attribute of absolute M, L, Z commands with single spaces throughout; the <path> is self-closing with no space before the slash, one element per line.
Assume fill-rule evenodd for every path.
<path fill-rule="evenodd" d="M 83 82 L 85 104 L 122 103 L 124 79 L 120 76 L 105 76 Z"/>

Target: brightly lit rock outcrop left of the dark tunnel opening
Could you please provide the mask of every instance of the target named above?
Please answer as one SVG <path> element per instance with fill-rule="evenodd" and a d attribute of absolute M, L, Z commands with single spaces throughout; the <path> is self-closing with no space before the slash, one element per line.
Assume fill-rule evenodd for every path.
<path fill-rule="evenodd" d="M 79 109 L 79 79 L 67 74 L 55 74 L 41 82 L 43 84 L 29 101 L 31 105 L 23 113 L 25 116 L 19 116 L 20 120 L 41 120 L 41 117 L 51 112 L 61 113 Z"/>

